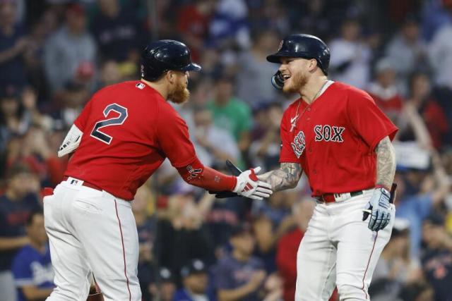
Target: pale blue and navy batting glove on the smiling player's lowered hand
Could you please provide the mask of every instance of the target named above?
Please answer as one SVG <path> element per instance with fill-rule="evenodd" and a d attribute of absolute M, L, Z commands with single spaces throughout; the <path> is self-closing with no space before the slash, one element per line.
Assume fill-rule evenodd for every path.
<path fill-rule="evenodd" d="M 367 204 L 362 214 L 363 221 L 371 215 L 368 226 L 371 231 L 383 230 L 388 226 L 389 221 L 391 221 L 391 204 L 389 203 L 389 199 L 391 199 L 391 193 L 388 190 L 384 188 L 376 188 L 374 190 L 374 195 L 372 195 L 369 204 Z"/>

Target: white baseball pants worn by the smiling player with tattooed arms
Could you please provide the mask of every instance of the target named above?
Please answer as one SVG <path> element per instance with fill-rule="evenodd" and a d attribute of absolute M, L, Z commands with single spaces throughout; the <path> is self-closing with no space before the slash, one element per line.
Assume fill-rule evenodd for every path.
<path fill-rule="evenodd" d="M 367 228 L 362 209 L 373 190 L 342 202 L 317 203 L 297 253 L 296 301 L 328 300 L 335 286 L 340 301 L 370 300 L 367 288 L 381 251 L 391 238 L 391 222 L 381 231 Z"/>

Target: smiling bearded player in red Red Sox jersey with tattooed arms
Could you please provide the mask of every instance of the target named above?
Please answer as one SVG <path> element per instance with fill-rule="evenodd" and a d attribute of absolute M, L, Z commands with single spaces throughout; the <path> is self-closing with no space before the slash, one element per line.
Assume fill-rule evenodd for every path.
<path fill-rule="evenodd" d="M 284 190 L 304 172 L 317 199 L 297 253 L 295 300 L 328 300 L 335 285 L 340 300 L 369 300 L 395 214 L 397 128 L 369 94 L 328 80 L 330 50 L 318 37 L 285 37 L 267 60 L 280 64 L 273 85 L 300 97 L 281 121 L 280 169 L 258 178 Z"/>

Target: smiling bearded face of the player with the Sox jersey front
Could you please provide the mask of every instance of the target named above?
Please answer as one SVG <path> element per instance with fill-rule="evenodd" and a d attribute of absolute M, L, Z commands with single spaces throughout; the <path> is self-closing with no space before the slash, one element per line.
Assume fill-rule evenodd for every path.
<path fill-rule="evenodd" d="M 279 70 L 284 78 L 283 92 L 295 93 L 302 90 L 316 66 L 315 59 L 281 58 Z"/>

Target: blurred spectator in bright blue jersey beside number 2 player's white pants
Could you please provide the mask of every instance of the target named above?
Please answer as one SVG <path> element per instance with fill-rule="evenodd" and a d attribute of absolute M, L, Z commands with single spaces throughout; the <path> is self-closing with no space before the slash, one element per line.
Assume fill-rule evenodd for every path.
<path fill-rule="evenodd" d="M 30 244 L 18 252 L 11 266 L 18 301 L 44 300 L 54 288 L 54 271 L 42 211 L 30 215 L 25 230 Z"/>

